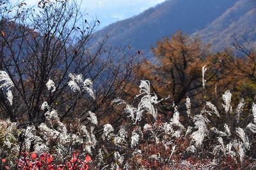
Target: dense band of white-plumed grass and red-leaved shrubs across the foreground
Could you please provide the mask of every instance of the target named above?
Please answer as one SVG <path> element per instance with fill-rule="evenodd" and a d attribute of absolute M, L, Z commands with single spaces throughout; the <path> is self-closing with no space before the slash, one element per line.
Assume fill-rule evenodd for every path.
<path fill-rule="evenodd" d="M 70 88 L 74 86 L 70 85 Z M 138 106 L 134 107 L 122 99 L 113 101 L 123 106 L 124 115 L 129 117 L 125 124 L 116 125 L 115 128 L 111 124 L 99 125 L 97 116 L 91 111 L 88 113 L 90 125 L 79 121 L 63 124 L 58 118 L 58 112 L 44 103 L 44 123 L 17 128 L 9 120 L 1 122 L 2 135 L 7 133 L 4 138 L 8 140 L 6 142 L 1 139 L 1 143 L 11 143 L 9 148 L 16 146 L 1 155 L 4 160 L 1 166 L 18 169 L 31 169 L 34 166 L 39 169 L 43 166 L 48 169 L 61 169 L 64 166 L 84 166 L 84 169 L 88 166 L 96 169 L 253 167 L 256 104 L 252 104 L 253 119 L 250 121 L 249 117 L 247 124 L 239 124 L 245 103 L 241 100 L 237 109 L 233 110 L 231 97 L 229 90 L 223 94 L 223 109 L 205 101 L 202 111 L 197 114 L 193 113 L 190 100 L 187 99 L 188 114 L 184 116 L 180 115 L 179 108 L 173 104 L 172 118 L 164 122 L 163 115 L 157 113 L 156 108 L 163 99 L 157 99 L 156 94 L 150 91 L 150 82 L 142 80 L 140 94 L 136 96 L 136 99 L 140 99 Z M 222 112 L 232 115 L 230 118 L 234 118 L 234 121 L 222 121 L 225 123 L 216 126 L 214 121 L 218 119 L 214 117 L 221 118 Z M 188 117 L 189 122 L 185 121 L 185 117 Z M 213 121 L 211 118 L 214 118 Z M 99 131 L 95 132 L 95 128 Z M 16 129 L 19 129 L 19 134 Z M 20 136 L 19 139 L 17 136 Z M 6 147 L 6 144 L 1 145 L 1 150 Z M 11 154 L 13 156 L 9 157 Z M 40 157 L 36 159 L 38 155 Z M 84 161 L 84 158 L 89 159 L 86 155 L 92 157 L 92 162 Z M 16 159 L 15 164 L 13 157 Z"/>

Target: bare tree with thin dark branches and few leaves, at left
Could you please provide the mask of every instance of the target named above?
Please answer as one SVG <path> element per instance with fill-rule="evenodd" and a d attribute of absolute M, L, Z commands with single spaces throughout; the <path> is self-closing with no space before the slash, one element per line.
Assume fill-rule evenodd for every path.
<path fill-rule="evenodd" d="M 104 104 L 125 95 L 120 87 L 132 81 L 135 54 L 124 52 L 114 60 L 115 50 L 104 49 L 106 39 L 91 48 L 88 42 L 99 22 L 88 22 L 78 2 L 45 0 L 37 8 L 24 6 L 18 7 L 12 19 L 1 20 L 0 69 L 10 75 L 15 98 L 10 106 L 1 92 L 1 117 L 42 122 L 40 107 L 47 101 L 60 111 L 61 119 L 76 115 L 86 120 L 89 110 L 102 114 L 111 108 Z M 87 92 L 70 90 L 70 73 L 94 82 L 95 99 Z M 47 89 L 49 79 L 56 90 Z"/>

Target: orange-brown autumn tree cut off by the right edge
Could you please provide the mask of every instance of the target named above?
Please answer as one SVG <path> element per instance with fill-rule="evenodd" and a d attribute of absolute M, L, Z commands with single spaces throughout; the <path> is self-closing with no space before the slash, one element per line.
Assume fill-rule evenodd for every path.
<path fill-rule="evenodd" d="M 234 95 L 253 102 L 256 94 L 256 53 L 255 47 L 246 39 L 238 40 L 234 36 L 235 50 L 225 50 L 222 53 L 222 65 L 226 75 L 236 80 Z M 224 57 L 225 56 L 225 57 Z"/>

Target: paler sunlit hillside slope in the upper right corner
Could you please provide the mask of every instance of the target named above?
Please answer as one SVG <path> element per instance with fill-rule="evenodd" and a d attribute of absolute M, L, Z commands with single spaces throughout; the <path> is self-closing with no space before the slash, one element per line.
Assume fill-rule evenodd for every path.
<path fill-rule="evenodd" d="M 211 25 L 195 34 L 199 34 L 205 42 L 212 43 L 214 51 L 232 46 L 234 35 L 238 40 L 246 38 L 252 45 L 256 45 L 256 1 L 237 2 Z"/>

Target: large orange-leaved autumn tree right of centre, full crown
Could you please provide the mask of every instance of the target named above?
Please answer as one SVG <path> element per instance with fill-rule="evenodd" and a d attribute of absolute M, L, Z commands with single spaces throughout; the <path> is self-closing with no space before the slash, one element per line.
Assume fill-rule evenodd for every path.
<path fill-rule="evenodd" d="M 179 105 L 180 110 L 185 110 L 187 97 L 195 108 L 202 105 L 198 100 L 200 97 L 214 98 L 214 87 L 222 80 L 223 74 L 220 73 L 223 70 L 220 56 L 212 55 L 209 48 L 198 37 L 189 37 L 178 31 L 172 38 L 164 38 L 157 42 L 156 48 L 152 48 L 156 64 L 144 60 L 137 68 L 137 75 L 150 80 L 157 96 L 165 99 L 161 103 L 161 111 L 165 115 L 173 111 L 173 103 Z M 207 69 L 204 73 L 205 88 L 202 85 L 204 66 Z"/>

